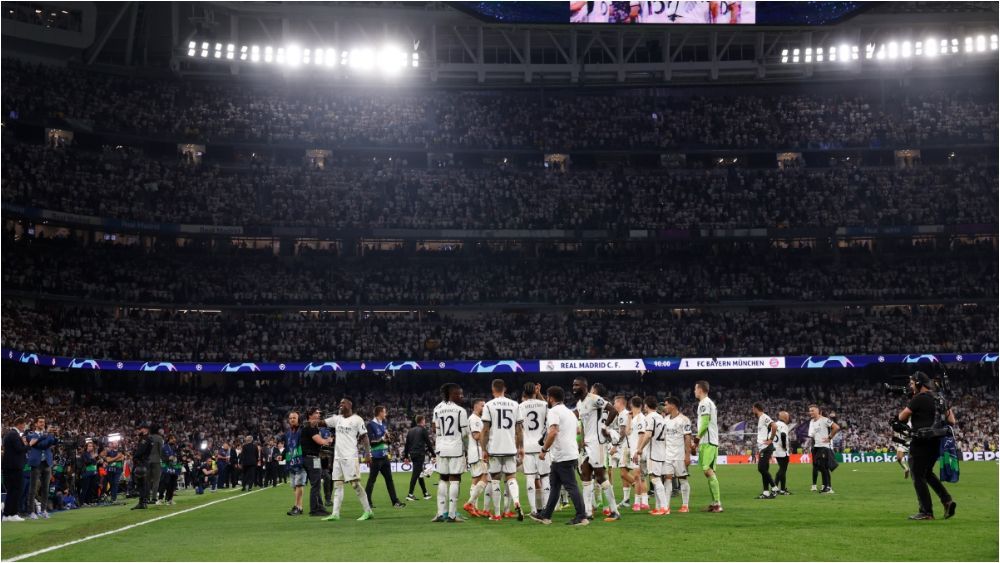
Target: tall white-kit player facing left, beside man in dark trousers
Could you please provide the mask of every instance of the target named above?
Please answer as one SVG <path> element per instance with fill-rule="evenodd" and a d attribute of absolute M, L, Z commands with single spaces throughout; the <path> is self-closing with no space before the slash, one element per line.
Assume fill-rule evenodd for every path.
<path fill-rule="evenodd" d="M 621 513 L 618 511 L 618 503 L 615 501 L 615 490 L 608 480 L 607 469 L 604 460 L 607 457 L 607 444 L 610 441 L 610 433 L 605 429 L 601 431 L 601 420 L 605 424 L 614 422 L 618 413 L 604 399 L 604 386 L 595 383 L 593 387 L 587 387 L 587 379 L 578 377 L 573 380 L 573 396 L 576 397 L 576 412 L 583 423 L 583 448 L 585 458 L 580 465 L 580 477 L 583 479 L 583 502 L 587 508 L 587 518 L 593 517 L 594 511 L 594 482 L 596 478 L 598 485 L 604 491 L 604 498 L 607 499 L 608 506 L 612 512 L 604 519 L 605 522 L 621 520 Z"/>

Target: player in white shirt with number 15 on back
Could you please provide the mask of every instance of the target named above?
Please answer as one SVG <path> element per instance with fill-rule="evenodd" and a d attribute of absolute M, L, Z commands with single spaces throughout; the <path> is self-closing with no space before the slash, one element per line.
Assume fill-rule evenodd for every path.
<path fill-rule="evenodd" d="M 517 519 L 524 520 L 521 495 L 517 486 L 517 458 L 524 452 L 521 427 L 516 425 L 518 404 L 517 401 L 506 397 L 507 385 L 502 379 L 494 379 L 491 387 L 493 400 L 483 407 L 483 432 L 479 436 L 479 444 L 485 451 L 483 458 L 489 464 L 493 484 L 493 516 L 490 520 L 502 519 L 501 478 L 506 483 L 510 498 L 514 501 Z"/>

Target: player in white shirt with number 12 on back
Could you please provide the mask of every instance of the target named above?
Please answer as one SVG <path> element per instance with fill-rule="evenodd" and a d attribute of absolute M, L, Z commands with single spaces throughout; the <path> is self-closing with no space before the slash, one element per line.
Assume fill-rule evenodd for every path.
<path fill-rule="evenodd" d="M 441 386 L 441 402 L 434 407 L 434 454 L 437 456 L 437 516 L 433 522 L 461 522 L 458 517 L 458 494 L 465 472 L 465 438 L 469 435 L 469 415 L 462 402 L 462 388 L 457 383 Z"/>

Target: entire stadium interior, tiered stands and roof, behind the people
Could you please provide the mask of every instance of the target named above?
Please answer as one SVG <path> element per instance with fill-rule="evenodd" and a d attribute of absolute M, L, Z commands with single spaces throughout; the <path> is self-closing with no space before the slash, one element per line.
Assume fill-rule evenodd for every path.
<path fill-rule="evenodd" d="M 5 428 L 346 391 L 402 457 L 449 379 L 589 371 L 714 378 L 732 456 L 762 391 L 848 452 L 918 367 L 995 409 L 997 4 L 623 4 L 5 2 Z"/>

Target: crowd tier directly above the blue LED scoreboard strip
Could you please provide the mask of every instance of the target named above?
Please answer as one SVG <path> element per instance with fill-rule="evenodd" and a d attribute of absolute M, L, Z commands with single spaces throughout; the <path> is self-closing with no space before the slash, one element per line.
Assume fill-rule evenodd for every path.
<path fill-rule="evenodd" d="M 3 346 L 151 361 L 988 352 L 995 305 L 836 310 L 234 314 L 3 304 Z"/>

